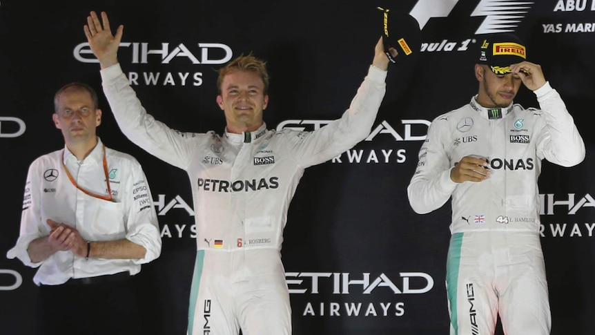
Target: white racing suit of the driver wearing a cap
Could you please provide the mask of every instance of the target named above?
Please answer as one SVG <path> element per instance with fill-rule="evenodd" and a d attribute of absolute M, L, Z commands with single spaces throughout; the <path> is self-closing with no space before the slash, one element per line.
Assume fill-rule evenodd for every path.
<path fill-rule="evenodd" d="M 539 239 L 541 161 L 574 166 L 585 144 L 556 90 L 534 92 L 540 106 L 483 108 L 471 102 L 436 117 L 407 189 L 411 207 L 429 213 L 451 198 L 447 294 L 451 335 L 549 335 L 551 316 Z M 462 157 L 489 162 L 482 182 L 457 184 Z"/>

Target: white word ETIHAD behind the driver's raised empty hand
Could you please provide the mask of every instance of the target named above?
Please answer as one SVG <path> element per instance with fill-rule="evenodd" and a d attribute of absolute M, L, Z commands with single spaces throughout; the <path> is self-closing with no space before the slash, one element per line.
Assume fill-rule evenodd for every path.
<path fill-rule="evenodd" d="M 231 48 L 225 44 L 199 43 L 197 46 L 198 48 L 191 50 L 184 44 L 178 44 L 170 48 L 169 43 L 162 43 L 161 48 L 149 48 L 148 43 L 126 42 L 120 43 L 118 53 L 121 54 L 124 53 L 124 50 L 130 50 L 132 52 L 132 55 L 130 55 L 132 64 L 148 64 L 149 58 L 155 57 L 152 55 L 157 55 L 156 57 L 161 64 L 169 64 L 175 58 L 188 59 L 192 64 L 225 64 L 233 55 Z M 211 56 L 213 53 L 222 54 L 222 56 L 215 58 Z M 75 59 L 81 63 L 99 63 L 87 42 L 77 45 L 73 54 Z"/>

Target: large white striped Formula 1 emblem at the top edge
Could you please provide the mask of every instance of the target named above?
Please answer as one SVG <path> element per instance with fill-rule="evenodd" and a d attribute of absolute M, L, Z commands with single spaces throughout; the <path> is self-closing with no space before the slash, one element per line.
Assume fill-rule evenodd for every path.
<path fill-rule="evenodd" d="M 460 1 L 469 3 L 469 1 Z M 459 0 L 418 0 L 411 12 L 423 29 L 432 17 L 448 17 Z M 480 0 L 471 17 L 485 17 L 476 35 L 514 32 L 534 4 L 523 0 Z"/>

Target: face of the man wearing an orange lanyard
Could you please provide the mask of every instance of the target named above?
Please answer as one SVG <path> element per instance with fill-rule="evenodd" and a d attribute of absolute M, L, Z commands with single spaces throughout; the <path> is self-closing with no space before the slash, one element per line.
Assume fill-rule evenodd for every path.
<path fill-rule="evenodd" d="M 55 99 L 52 116 L 56 128 L 62 131 L 67 145 L 97 142 L 96 128 L 101 124 L 101 110 L 95 108 L 91 94 L 72 86 Z"/>

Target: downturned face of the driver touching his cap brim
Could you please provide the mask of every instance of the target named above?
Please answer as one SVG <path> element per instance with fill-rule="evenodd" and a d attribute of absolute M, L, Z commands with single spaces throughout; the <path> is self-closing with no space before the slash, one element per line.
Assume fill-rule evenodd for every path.
<path fill-rule="evenodd" d="M 518 75 L 496 75 L 488 66 L 476 64 L 475 75 L 479 81 L 477 102 L 485 108 L 505 108 L 516 97 L 521 80 Z"/>

